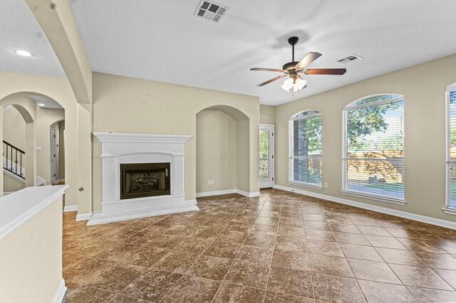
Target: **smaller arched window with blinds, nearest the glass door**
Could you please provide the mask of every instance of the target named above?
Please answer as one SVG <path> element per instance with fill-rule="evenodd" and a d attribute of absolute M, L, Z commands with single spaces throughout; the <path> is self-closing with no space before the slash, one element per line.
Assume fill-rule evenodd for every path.
<path fill-rule="evenodd" d="M 289 181 L 321 188 L 321 114 L 299 112 L 289 121 Z"/>

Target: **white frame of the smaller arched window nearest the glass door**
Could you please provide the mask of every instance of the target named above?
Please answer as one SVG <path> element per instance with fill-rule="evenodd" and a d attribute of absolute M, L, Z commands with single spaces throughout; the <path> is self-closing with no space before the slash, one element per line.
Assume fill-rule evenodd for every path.
<path fill-rule="evenodd" d="M 315 112 L 314 114 L 311 115 L 306 115 L 305 117 L 297 117 L 299 114 L 303 112 Z M 299 181 L 294 181 L 293 180 L 293 159 L 294 158 L 300 158 L 299 156 L 293 156 L 293 142 L 294 142 L 294 127 L 293 127 L 293 122 L 295 120 L 301 120 L 301 119 L 309 119 L 309 118 L 314 118 L 314 117 L 321 117 L 321 184 L 312 184 L 312 183 L 307 183 L 307 182 L 299 182 Z M 288 122 L 288 127 L 289 127 L 289 174 L 288 174 L 288 183 L 289 184 L 295 184 L 299 186 L 305 186 L 309 188 L 314 188 L 314 189 L 323 189 L 323 115 L 321 115 L 321 112 L 318 112 L 316 110 L 301 110 L 299 112 L 296 112 L 296 114 L 292 115 L 291 118 L 289 119 Z"/>

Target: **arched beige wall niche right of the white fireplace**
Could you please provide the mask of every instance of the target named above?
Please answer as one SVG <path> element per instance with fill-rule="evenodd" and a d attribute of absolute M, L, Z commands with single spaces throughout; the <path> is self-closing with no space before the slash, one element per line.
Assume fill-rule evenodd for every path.
<path fill-rule="evenodd" d="M 250 192 L 250 119 L 227 105 L 196 115 L 197 196 Z"/>

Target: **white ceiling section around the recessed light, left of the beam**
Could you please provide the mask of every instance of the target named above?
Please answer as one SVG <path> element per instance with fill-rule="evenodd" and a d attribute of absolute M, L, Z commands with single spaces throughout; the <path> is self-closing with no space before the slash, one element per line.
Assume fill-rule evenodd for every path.
<path fill-rule="evenodd" d="M 0 0 L 0 70 L 64 77 L 56 54 L 24 0 Z M 21 57 L 27 50 L 33 57 Z"/>

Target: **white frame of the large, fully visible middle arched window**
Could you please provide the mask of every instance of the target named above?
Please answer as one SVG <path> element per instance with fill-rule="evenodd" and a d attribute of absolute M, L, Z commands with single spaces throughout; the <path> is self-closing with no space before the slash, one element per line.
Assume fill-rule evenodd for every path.
<path fill-rule="evenodd" d="M 381 95 L 393 95 L 395 97 L 385 99 L 385 100 L 378 100 L 375 102 L 368 102 L 368 103 L 363 103 L 361 105 L 356 105 L 357 102 L 361 100 L 365 100 L 371 97 L 377 97 Z M 404 112 L 405 112 L 405 98 L 403 95 L 398 95 L 398 94 L 391 94 L 391 93 L 384 93 L 384 94 L 375 94 L 375 95 L 368 95 L 365 97 L 361 97 L 353 102 L 348 103 L 345 107 L 342 109 L 342 189 L 341 193 L 347 195 L 347 196 L 356 196 L 359 198 L 366 198 L 374 201 L 381 201 L 385 203 L 393 203 L 393 204 L 398 204 L 398 205 L 405 205 L 405 156 L 404 156 L 404 176 L 403 176 L 403 183 L 404 183 L 404 198 L 391 198 L 390 196 L 383 196 L 381 194 L 369 194 L 365 193 L 363 191 L 353 191 L 345 188 L 346 184 L 346 172 L 347 172 L 347 166 L 346 163 L 348 163 L 348 144 L 347 144 L 347 115 L 348 115 L 348 110 L 356 110 L 359 108 L 363 107 L 372 107 L 372 106 L 378 106 L 378 105 L 385 105 L 388 103 L 392 102 L 400 102 L 404 101 Z M 404 127 L 404 138 L 405 138 L 405 127 Z"/>

